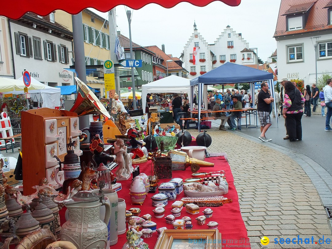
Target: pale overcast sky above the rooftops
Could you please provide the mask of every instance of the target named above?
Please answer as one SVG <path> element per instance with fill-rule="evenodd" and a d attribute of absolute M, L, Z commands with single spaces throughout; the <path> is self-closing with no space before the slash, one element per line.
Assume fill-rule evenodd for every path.
<path fill-rule="evenodd" d="M 180 3 L 171 9 L 148 4 L 132 10 L 132 41 L 142 46 L 165 44 L 165 52 L 179 57 L 194 32 L 194 20 L 198 32 L 208 44 L 216 41 L 229 25 L 236 33 L 242 33 L 250 47 L 258 48 L 258 56 L 266 61 L 277 48 L 273 38 L 281 0 L 242 0 L 238 7 L 230 7 L 220 1 L 205 7 Z M 129 38 L 125 6 L 116 7 L 117 26 L 121 34 Z M 94 10 L 95 11 L 95 10 Z M 107 13 L 95 11 L 108 19 Z"/>

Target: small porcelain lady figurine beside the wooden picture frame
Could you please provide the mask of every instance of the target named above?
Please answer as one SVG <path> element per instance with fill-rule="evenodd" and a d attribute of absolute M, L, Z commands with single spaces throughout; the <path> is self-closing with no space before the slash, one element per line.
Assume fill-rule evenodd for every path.
<path fill-rule="evenodd" d="M 149 249 L 149 245 L 141 239 L 143 233 L 138 231 L 139 227 L 136 225 L 135 219 L 129 219 L 128 223 L 128 231 L 126 233 L 127 242 L 124 243 L 122 248 Z"/>

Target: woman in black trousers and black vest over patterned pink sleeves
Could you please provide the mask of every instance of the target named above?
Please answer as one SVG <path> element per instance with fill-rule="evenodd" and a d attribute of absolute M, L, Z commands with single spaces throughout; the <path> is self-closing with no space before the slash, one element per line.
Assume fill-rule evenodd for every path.
<path fill-rule="evenodd" d="M 286 126 L 290 142 L 302 140 L 301 118 L 303 116 L 304 97 L 302 93 L 291 83 L 285 82 L 285 96 L 283 104 L 283 117 L 287 120 Z"/>

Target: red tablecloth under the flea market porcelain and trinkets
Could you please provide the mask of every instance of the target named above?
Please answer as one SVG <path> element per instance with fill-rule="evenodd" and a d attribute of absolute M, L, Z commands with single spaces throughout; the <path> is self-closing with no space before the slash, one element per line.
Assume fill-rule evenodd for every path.
<path fill-rule="evenodd" d="M 239 202 L 238 202 L 238 195 L 236 192 L 236 189 L 234 187 L 234 179 L 232 172 L 230 170 L 229 164 L 225 160 L 223 156 L 218 156 L 218 157 L 209 157 L 206 158 L 207 162 L 212 162 L 214 163 L 214 167 L 201 167 L 199 170 L 200 172 L 212 172 L 212 171 L 218 171 L 218 170 L 224 170 L 225 171 L 225 176 L 226 180 L 229 185 L 229 190 L 228 194 L 224 195 L 227 198 L 230 198 L 233 200 L 231 203 L 226 203 L 221 207 L 211 207 L 213 210 L 213 215 L 211 218 L 207 218 L 206 224 L 209 221 L 217 221 L 219 223 L 218 229 L 221 232 L 222 236 L 222 243 L 223 245 L 232 245 L 232 247 L 246 247 L 250 248 L 250 243 L 249 239 L 247 236 L 247 229 L 244 225 L 244 222 L 242 220 L 241 212 L 240 212 L 240 207 L 239 207 Z M 151 161 L 148 161 L 146 163 L 140 164 L 140 173 L 145 173 L 147 175 L 151 174 Z M 187 168 L 185 171 L 173 171 L 172 176 L 173 178 L 190 178 L 192 172 L 190 168 Z M 160 179 L 160 183 L 162 182 L 168 182 L 170 179 Z M 131 184 L 131 178 L 129 178 L 127 181 L 121 181 L 122 184 L 122 190 L 118 192 L 118 196 L 120 198 L 125 199 L 126 202 L 126 207 L 127 210 L 130 207 L 140 207 L 141 208 L 141 213 L 140 216 L 149 213 L 152 215 L 152 221 L 157 223 L 157 228 L 159 227 L 167 227 L 167 229 L 173 229 L 173 226 L 171 224 L 166 223 L 165 218 L 160 218 L 157 219 L 153 216 L 152 210 L 154 207 L 152 207 L 152 201 L 151 201 L 151 196 L 153 196 L 153 193 L 149 193 L 146 196 L 146 199 L 143 203 L 142 206 L 139 205 L 132 205 L 131 204 L 131 199 L 129 196 L 129 188 Z M 158 191 L 156 191 L 157 193 Z M 184 197 L 184 193 L 182 192 L 180 195 L 177 197 L 177 201 L 181 200 L 181 198 Z M 171 205 L 174 201 L 169 201 L 168 205 L 165 207 L 165 217 L 168 214 L 171 214 Z M 206 207 L 201 207 L 200 208 L 200 213 L 192 215 L 188 212 L 186 212 L 186 208 L 184 207 L 181 211 L 181 216 L 177 218 L 181 218 L 183 216 L 189 216 L 192 218 L 192 223 L 193 223 L 193 229 L 207 229 L 207 225 L 198 225 L 195 218 L 199 215 L 203 215 L 202 211 Z M 62 217 L 64 216 L 64 210 L 63 208 L 60 211 L 60 216 L 61 216 L 61 221 L 63 221 Z M 61 224 L 62 224 L 61 222 Z M 148 239 L 144 239 L 146 243 L 149 244 L 149 248 L 152 249 L 158 239 L 157 232 L 153 233 L 153 236 Z M 122 235 L 118 236 L 118 243 L 114 246 L 111 246 L 111 249 L 116 249 L 116 248 L 122 248 L 123 244 L 126 242 L 125 238 L 125 233 Z"/>

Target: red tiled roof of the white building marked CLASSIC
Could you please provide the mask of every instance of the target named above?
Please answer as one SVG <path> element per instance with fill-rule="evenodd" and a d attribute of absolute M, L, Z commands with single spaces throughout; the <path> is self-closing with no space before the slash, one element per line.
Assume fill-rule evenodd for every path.
<path fill-rule="evenodd" d="M 304 7 L 304 5 L 309 6 L 313 3 L 312 1 L 304 1 L 306 3 L 303 3 L 303 0 L 281 0 L 277 27 L 274 37 L 332 29 L 332 25 L 327 25 L 328 11 L 324 8 L 326 6 L 326 0 L 317 0 L 316 2 L 314 2 L 313 6 L 308 11 L 308 20 L 304 29 L 286 31 L 285 13 L 288 10 L 294 9 L 294 6 L 299 6 L 300 8 L 302 8 Z M 304 11 L 302 10 L 301 12 Z"/>

